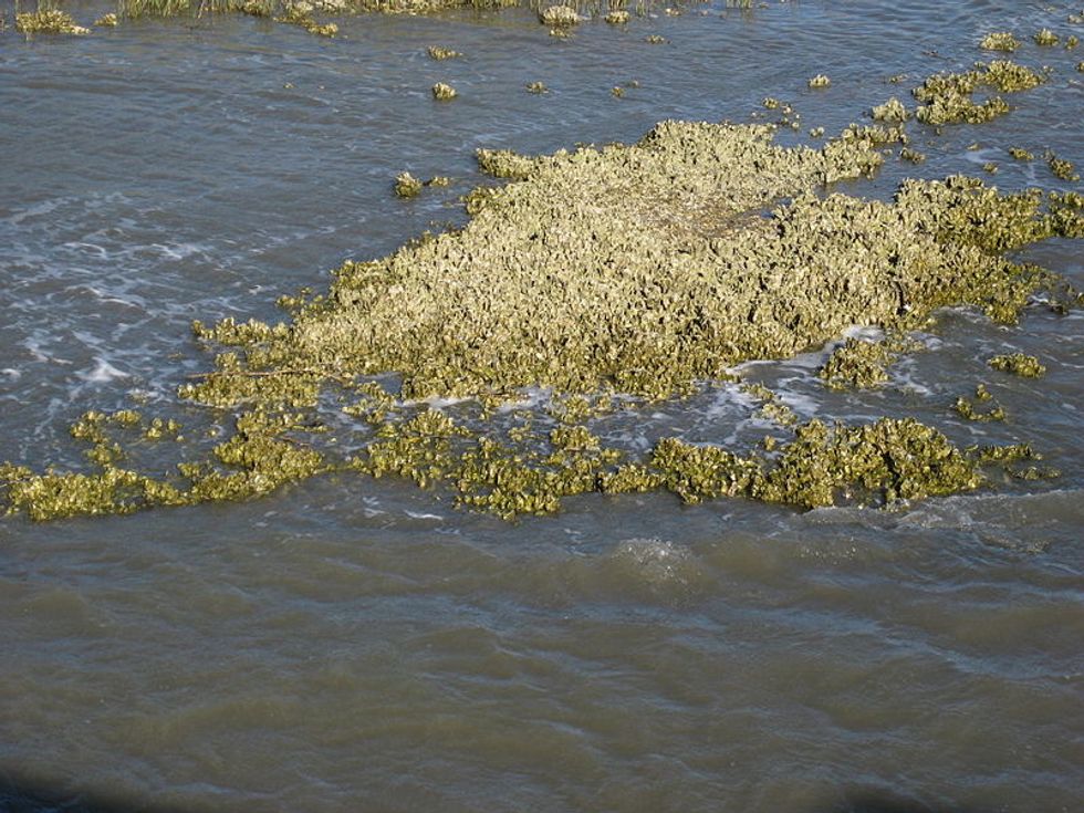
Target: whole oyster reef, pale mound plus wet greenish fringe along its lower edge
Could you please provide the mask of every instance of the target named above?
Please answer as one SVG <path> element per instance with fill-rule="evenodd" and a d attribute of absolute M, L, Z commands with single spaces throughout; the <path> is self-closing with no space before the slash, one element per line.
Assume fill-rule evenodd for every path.
<path fill-rule="evenodd" d="M 957 121 L 921 112 L 981 107 L 971 101 L 980 85 L 1041 81 L 1011 63 L 940 74 L 916 92 L 918 118 Z M 907 180 L 890 202 L 865 200 L 833 185 L 875 173 L 885 147 L 906 143 L 900 126 L 852 125 L 820 149 L 781 146 L 774 132 L 665 122 L 629 146 L 481 150 L 480 167 L 511 183 L 468 195 L 463 229 L 347 262 L 326 293 L 283 298 L 282 323 L 194 325 L 221 352 L 179 394 L 217 420 L 219 410 L 233 416 L 212 449 L 189 448 L 190 432 L 163 418 L 92 413 L 72 427 L 91 447 L 87 471 L 3 465 L 0 500 L 35 520 L 123 513 L 257 497 L 333 471 L 436 486 L 508 518 L 585 492 L 666 489 L 687 502 L 809 508 L 978 488 L 983 467 L 1021 456 L 961 449 L 909 418 L 802 423 L 754 387 L 746 393 L 760 415 L 786 434 L 763 449 L 663 437 L 636 454 L 588 426 L 598 411 L 733 386 L 723 382 L 734 365 L 790 357 L 855 325 L 897 338 L 845 343 L 824 368 L 833 386 L 883 383 L 908 350 L 898 337 L 938 308 L 971 305 L 1011 324 L 1039 290 L 1056 306 L 1077 304 L 1052 274 L 1005 253 L 1084 237 L 1080 195 L 1002 195 L 953 176 Z M 536 387 L 562 394 L 551 399 L 556 417 L 510 418 L 507 405 Z M 1003 419 L 996 404 L 979 405 L 984 393 L 961 397 L 960 415 Z M 457 421 L 418 403 L 432 397 L 471 399 L 476 414 Z M 337 446 L 323 442 L 332 431 Z M 185 450 L 183 462 L 140 468 L 137 447 L 163 440 Z"/>

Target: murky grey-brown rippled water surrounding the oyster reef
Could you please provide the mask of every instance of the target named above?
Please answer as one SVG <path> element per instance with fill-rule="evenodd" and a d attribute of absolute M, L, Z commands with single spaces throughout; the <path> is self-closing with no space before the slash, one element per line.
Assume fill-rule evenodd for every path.
<path fill-rule="evenodd" d="M 802 115 L 782 138 L 831 132 L 981 59 L 988 31 L 1064 38 L 1071 11 L 720 3 L 567 41 L 515 9 L 346 19 L 334 41 L 248 19 L 33 42 L 9 28 L 0 460 L 73 465 L 84 409 L 170 404 L 207 366 L 189 320 L 273 316 L 345 258 L 462 222 L 476 147 L 749 121 L 769 95 Z M 430 44 L 467 55 L 432 62 Z M 910 125 L 927 161 L 848 191 L 988 161 L 1004 189 L 1080 189 L 1004 149 L 1084 164 L 1081 51 L 1029 41 L 1015 59 L 1051 83 L 992 124 Z M 807 88 L 816 73 L 831 87 Z M 460 97 L 435 103 L 437 81 Z M 454 184 L 400 201 L 404 169 Z M 1025 257 L 1084 283 L 1078 244 Z M 744 373 L 802 417 L 1026 441 L 1061 478 L 894 512 L 584 497 L 508 524 L 342 476 L 237 505 L 3 520 L 0 809 L 1078 810 L 1084 316 L 946 312 L 920 338 L 873 393 L 826 392 L 823 352 Z M 1047 376 L 986 368 L 1018 350 Z M 1007 424 L 949 409 L 979 382 Z M 718 388 L 613 430 L 722 441 L 757 421 Z"/>

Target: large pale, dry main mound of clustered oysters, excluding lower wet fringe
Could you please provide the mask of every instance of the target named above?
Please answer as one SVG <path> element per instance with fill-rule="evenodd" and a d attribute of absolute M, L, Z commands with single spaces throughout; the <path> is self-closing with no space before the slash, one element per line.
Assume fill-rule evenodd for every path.
<path fill-rule="evenodd" d="M 668 122 L 634 146 L 482 152 L 484 169 L 524 180 L 472 198 L 461 232 L 346 263 L 290 323 L 200 327 L 244 358 L 226 354 L 188 395 L 233 405 L 246 373 L 289 366 L 395 371 L 408 398 L 534 385 L 663 398 L 945 304 L 1011 322 L 1044 275 L 1000 254 L 1080 228 L 1078 210 L 962 177 L 907 181 L 894 204 L 811 194 L 873 171 L 875 137 L 783 148 L 768 126 Z"/>

